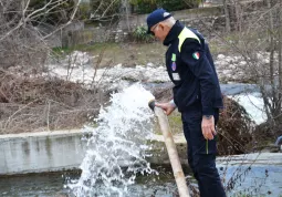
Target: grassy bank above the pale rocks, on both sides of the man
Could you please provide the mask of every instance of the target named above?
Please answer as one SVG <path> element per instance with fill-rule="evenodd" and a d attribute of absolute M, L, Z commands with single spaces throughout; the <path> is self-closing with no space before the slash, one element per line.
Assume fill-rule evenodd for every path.
<path fill-rule="evenodd" d="M 239 49 L 248 48 L 258 43 L 258 39 L 265 34 L 265 32 L 254 32 L 252 34 L 246 33 L 229 33 L 222 34 L 221 38 L 212 38 L 209 40 L 210 51 L 213 55 L 217 54 L 234 54 L 237 51 L 234 45 Z M 63 56 L 73 51 L 87 52 L 93 56 L 98 56 L 103 51 L 101 68 L 116 65 L 122 63 L 123 66 L 146 65 L 149 62 L 154 64 L 165 65 L 165 53 L 167 48 L 160 42 L 153 43 L 92 43 L 79 44 L 73 48 L 54 48 L 53 52 L 58 56 Z"/>

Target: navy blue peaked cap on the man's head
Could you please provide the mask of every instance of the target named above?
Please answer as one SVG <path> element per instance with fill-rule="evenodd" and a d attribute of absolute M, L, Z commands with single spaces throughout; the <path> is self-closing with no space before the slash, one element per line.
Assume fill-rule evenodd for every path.
<path fill-rule="evenodd" d="M 147 25 L 148 25 L 148 31 L 147 33 L 150 32 L 150 28 L 154 27 L 155 24 L 170 18 L 171 14 L 164 10 L 163 8 L 155 10 L 147 17 Z"/>

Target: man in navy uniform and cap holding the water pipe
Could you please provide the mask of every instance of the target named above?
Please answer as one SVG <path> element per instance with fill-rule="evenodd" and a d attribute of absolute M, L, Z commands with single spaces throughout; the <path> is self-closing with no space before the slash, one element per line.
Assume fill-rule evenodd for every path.
<path fill-rule="evenodd" d="M 188 144 L 188 162 L 198 180 L 201 197 L 224 197 L 216 168 L 216 124 L 222 97 L 218 76 L 202 35 L 184 27 L 164 9 L 147 18 L 148 33 L 164 45 L 167 72 L 175 84 L 174 100 L 156 103 L 169 115 L 176 107 L 181 113 Z"/>

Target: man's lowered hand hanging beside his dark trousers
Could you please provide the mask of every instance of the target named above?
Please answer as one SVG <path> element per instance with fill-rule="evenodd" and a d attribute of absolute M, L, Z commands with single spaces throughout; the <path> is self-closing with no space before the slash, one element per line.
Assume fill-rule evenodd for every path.
<path fill-rule="evenodd" d="M 217 132 L 215 129 L 215 118 L 212 115 L 210 117 L 202 116 L 201 131 L 206 139 L 213 139 L 213 135 L 216 135 Z"/>

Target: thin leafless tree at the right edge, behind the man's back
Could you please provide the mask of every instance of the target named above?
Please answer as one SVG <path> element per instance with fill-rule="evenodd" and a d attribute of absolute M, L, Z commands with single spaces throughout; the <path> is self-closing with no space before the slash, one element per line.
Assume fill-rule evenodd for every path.
<path fill-rule="evenodd" d="M 238 39 L 226 43 L 232 53 L 241 54 L 247 62 L 244 72 L 260 87 L 272 134 L 278 135 L 280 128 L 276 126 L 282 121 L 282 7 L 281 1 L 268 0 L 260 9 L 249 11 L 254 3 L 240 4 L 240 11 L 237 12 L 240 17 L 232 19 L 237 23 L 232 29 L 233 34 Z"/>

